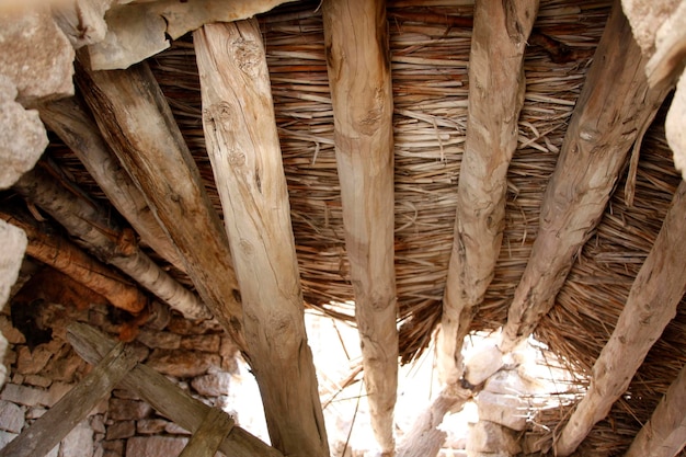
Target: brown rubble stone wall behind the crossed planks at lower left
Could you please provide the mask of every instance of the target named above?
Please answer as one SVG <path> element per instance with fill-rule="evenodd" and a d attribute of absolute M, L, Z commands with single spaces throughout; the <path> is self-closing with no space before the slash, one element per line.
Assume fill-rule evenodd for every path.
<path fill-rule="evenodd" d="M 25 305 L 25 304 L 22 304 Z M 8 382 L 0 390 L 0 448 L 31 426 L 68 392 L 90 366 L 66 341 L 66 324 L 90 323 L 117 338 L 123 328 L 137 333 L 130 344 L 139 359 L 164 374 L 207 404 L 228 409 L 227 395 L 237 376 L 236 347 L 215 321 L 191 322 L 157 306 L 148 323 L 132 329 L 124 316 L 105 305 L 89 309 L 39 304 L 33 323 L 52 330 L 52 340 L 34 346 L 32 336 L 13 327 L 9 304 L 0 311 L 0 331 L 10 345 L 4 358 Z M 16 322 L 18 327 L 23 327 Z M 26 329 L 24 332 L 30 333 Z M 173 457 L 188 434 L 150 405 L 115 389 L 49 454 L 50 457 Z"/>

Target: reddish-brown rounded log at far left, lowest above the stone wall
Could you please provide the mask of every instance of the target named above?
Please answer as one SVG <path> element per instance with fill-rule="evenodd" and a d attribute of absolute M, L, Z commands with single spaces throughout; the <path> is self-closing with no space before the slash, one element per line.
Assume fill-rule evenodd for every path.
<path fill-rule="evenodd" d="M 26 253 L 50 265 L 105 297 L 112 305 L 128 312 L 140 312 L 148 299 L 132 282 L 58 235 L 48 235 L 37 224 L 3 212 L 0 218 L 26 233 Z"/>

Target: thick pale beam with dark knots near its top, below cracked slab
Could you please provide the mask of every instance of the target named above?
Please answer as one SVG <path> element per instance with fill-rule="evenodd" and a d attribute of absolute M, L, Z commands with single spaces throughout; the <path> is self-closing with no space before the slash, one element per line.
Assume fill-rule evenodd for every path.
<path fill-rule="evenodd" d="M 270 437 L 285 455 L 328 457 L 260 27 L 254 20 L 208 24 L 193 38 L 207 153 Z"/>

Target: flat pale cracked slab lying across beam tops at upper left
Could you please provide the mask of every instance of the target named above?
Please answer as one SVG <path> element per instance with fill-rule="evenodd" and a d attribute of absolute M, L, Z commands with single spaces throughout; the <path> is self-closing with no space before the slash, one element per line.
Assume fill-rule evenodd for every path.
<path fill-rule="evenodd" d="M 117 5 L 105 19 L 107 34 L 89 46 L 93 69 L 128 68 L 169 47 L 167 35 L 176 39 L 203 24 L 232 22 L 294 0 L 158 0 Z"/>

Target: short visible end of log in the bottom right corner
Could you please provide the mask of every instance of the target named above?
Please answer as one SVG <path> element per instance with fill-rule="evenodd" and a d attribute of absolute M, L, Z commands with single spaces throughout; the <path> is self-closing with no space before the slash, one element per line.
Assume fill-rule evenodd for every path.
<path fill-rule="evenodd" d="M 674 457 L 686 445 L 686 367 L 682 368 L 625 457 Z"/>

